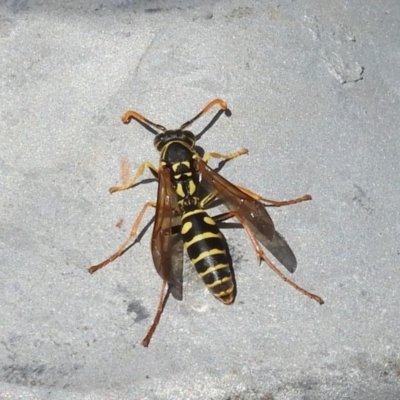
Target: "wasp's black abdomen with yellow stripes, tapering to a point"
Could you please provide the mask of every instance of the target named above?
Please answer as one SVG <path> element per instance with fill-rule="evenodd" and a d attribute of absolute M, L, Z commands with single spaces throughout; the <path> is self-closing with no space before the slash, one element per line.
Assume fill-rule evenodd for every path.
<path fill-rule="evenodd" d="M 227 244 L 216 222 L 202 209 L 183 212 L 181 236 L 197 273 L 225 304 L 235 299 Z"/>

